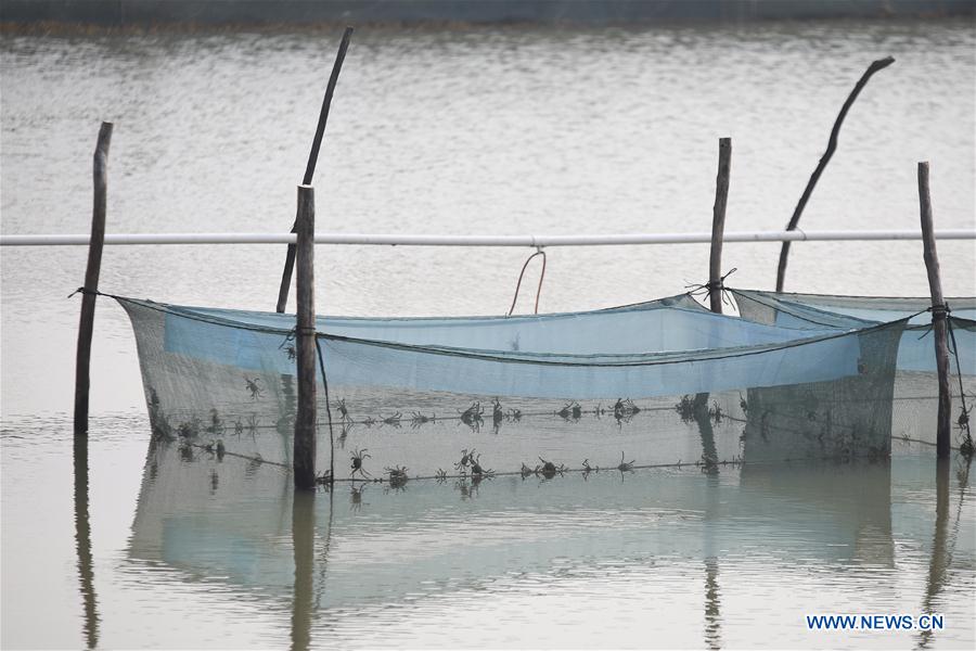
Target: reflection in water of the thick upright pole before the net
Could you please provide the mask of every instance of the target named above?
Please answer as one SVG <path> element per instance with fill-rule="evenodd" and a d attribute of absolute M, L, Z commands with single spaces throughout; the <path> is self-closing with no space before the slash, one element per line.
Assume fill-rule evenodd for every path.
<path fill-rule="evenodd" d="M 316 566 L 316 494 L 312 492 L 296 490 L 293 495 L 292 547 L 295 553 L 292 649 L 308 649 Z"/>

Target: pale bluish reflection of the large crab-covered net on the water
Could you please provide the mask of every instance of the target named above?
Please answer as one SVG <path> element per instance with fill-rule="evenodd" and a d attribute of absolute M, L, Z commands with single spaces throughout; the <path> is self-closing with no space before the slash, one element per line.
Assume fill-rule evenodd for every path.
<path fill-rule="evenodd" d="M 757 540 L 773 561 L 894 564 L 885 461 L 703 470 L 337 484 L 294 499 L 278 467 L 206 454 L 190 461 L 157 442 L 128 553 L 242 599 L 267 595 L 288 613 L 296 649 L 311 644 L 323 611 L 667 559 L 704 565 L 703 643 L 717 648 L 719 567 L 755 554 Z"/>

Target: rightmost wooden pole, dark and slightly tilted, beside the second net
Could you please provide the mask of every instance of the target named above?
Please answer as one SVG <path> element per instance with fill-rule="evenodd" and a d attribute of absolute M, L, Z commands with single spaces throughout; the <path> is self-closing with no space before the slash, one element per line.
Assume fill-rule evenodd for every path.
<path fill-rule="evenodd" d="M 922 250 L 932 293 L 932 332 L 935 335 L 936 371 L 939 379 L 939 410 L 936 426 L 936 455 L 949 457 L 952 431 L 952 394 L 949 393 L 949 309 L 942 297 L 939 256 L 932 226 L 932 195 L 928 191 L 928 163 L 919 163 L 919 205 L 922 214 Z"/>

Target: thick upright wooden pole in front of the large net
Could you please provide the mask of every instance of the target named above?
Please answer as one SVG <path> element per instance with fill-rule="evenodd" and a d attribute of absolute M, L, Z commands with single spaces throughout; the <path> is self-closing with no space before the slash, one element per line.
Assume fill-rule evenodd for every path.
<path fill-rule="evenodd" d="M 292 463 L 295 488 L 308 489 L 316 486 L 316 194 L 311 186 L 298 187 L 296 226 L 298 414 Z"/>

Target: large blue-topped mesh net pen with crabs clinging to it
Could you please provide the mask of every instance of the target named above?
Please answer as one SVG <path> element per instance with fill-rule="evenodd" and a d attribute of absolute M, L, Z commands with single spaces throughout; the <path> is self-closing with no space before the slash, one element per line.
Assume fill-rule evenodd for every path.
<path fill-rule="evenodd" d="M 294 316 L 118 298 L 156 434 L 291 464 Z M 675 297 L 513 318 L 323 318 L 336 478 L 885 456 L 906 320 L 842 329 Z M 209 445 L 204 443 L 204 445 Z M 474 458 L 471 452 L 474 450 Z"/>

